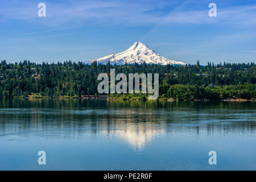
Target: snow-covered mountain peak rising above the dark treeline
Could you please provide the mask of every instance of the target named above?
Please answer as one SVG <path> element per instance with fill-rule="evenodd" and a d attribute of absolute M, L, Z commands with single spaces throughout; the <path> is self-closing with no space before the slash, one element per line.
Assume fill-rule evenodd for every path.
<path fill-rule="evenodd" d="M 108 61 L 110 61 L 110 64 L 142 64 L 143 62 L 147 64 L 180 64 L 185 65 L 185 63 L 180 61 L 173 61 L 169 60 L 166 57 L 160 56 L 155 51 L 148 48 L 146 45 L 144 45 L 141 42 L 135 42 L 133 46 L 131 46 L 126 51 L 115 53 L 109 56 L 101 57 L 99 59 L 95 59 L 92 61 L 88 61 L 85 63 L 93 63 L 93 61 L 97 61 L 97 63 L 106 64 Z"/>

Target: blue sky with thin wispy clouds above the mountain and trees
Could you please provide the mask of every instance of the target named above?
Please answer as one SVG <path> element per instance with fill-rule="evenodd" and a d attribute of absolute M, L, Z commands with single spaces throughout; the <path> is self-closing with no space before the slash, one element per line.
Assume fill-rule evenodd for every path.
<path fill-rule="evenodd" d="M 256 60 L 255 0 L 9 0 L 0 2 L 0 27 L 0 60 L 11 63 L 89 61 L 136 41 L 189 64 Z"/>

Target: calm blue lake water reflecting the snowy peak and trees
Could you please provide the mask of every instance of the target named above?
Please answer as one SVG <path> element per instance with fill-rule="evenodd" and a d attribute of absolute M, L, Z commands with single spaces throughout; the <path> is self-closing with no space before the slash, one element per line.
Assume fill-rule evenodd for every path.
<path fill-rule="evenodd" d="M 256 102 L 0 100 L 0 170 L 255 170 L 255 110 Z"/>

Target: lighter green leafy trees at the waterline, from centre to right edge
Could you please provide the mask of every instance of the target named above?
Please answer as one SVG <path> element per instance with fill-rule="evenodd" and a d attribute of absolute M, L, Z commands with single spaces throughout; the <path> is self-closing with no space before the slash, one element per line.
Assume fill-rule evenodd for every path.
<path fill-rule="evenodd" d="M 146 100 L 147 96 L 138 94 L 110 94 L 111 99 Z M 225 99 L 255 100 L 256 84 L 246 85 L 171 85 L 167 93 L 160 95 L 159 99 L 172 100 L 225 100 Z"/>

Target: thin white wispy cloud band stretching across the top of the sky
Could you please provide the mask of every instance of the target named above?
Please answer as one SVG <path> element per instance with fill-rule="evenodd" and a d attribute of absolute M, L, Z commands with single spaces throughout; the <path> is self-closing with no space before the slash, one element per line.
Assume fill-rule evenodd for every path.
<path fill-rule="evenodd" d="M 14 3 L 15 2 L 15 3 Z M 63 26 L 77 23 L 105 24 L 234 24 L 242 26 L 256 25 L 256 5 L 218 6 L 217 17 L 208 16 L 208 1 L 46 1 L 47 16 L 37 15 L 39 1 L 9 1 L 0 7 L 0 21 L 14 19 L 44 24 L 45 26 Z M 159 13 L 159 9 L 170 7 L 170 13 Z"/>

